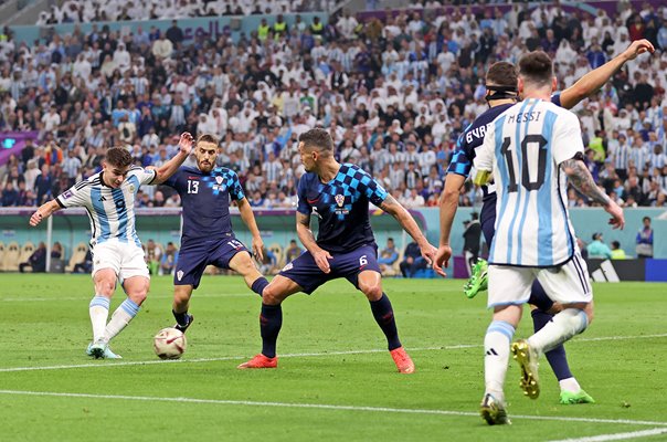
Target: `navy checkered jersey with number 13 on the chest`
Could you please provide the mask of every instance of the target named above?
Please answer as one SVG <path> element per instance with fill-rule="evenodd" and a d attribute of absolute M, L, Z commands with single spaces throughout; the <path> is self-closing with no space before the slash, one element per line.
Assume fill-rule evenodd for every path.
<path fill-rule="evenodd" d="M 230 198 L 245 198 L 239 176 L 225 167 L 209 173 L 191 167 L 181 167 L 166 186 L 181 196 L 183 206 L 182 242 L 188 240 L 220 240 L 232 233 Z"/>

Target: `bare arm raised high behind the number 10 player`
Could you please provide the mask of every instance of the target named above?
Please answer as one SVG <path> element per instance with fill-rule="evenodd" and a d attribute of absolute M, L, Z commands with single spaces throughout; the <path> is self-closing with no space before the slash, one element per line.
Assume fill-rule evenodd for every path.
<path fill-rule="evenodd" d="M 635 60 L 639 54 L 654 51 L 655 49 L 648 40 L 635 40 L 623 53 L 589 72 L 572 86 L 561 92 L 561 106 L 567 109 L 576 106 L 579 102 L 601 88 L 626 62 Z"/>

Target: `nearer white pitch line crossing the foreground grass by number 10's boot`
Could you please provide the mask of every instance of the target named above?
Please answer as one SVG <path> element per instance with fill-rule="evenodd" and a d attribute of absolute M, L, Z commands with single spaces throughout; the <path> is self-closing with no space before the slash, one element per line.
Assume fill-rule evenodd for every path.
<path fill-rule="evenodd" d="M 361 406 L 335 406 L 328 403 L 290 403 L 290 402 L 268 402 L 268 401 L 247 401 L 247 400 L 229 400 L 229 399 L 197 399 L 197 398 L 159 398 L 149 396 L 124 396 L 124 394 L 89 394 L 89 393 L 67 393 L 53 391 L 21 391 L 21 390 L 0 390 L 0 394 L 9 396 L 42 396 L 56 398 L 85 398 L 85 399 L 118 399 L 131 401 L 153 401 L 153 402 L 180 402 L 180 403 L 208 403 L 218 406 L 252 406 L 252 407 L 276 407 L 276 408 L 305 408 L 318 410 L 335 410 L 335 411 L 369 411 L 383 413 L 406 413 L 406 414 L 435 414 L 435 415 L 460 415 L 479 418 L 479 413 L 470 411 L 452 411 L 452 410 L 427 410 L 427 409 L 411 409 L 411 408 L 388 408 L 388 407 L 361 407 Z M 550 420 L 562 422 L 589 422 L 589 423 L 616 423 L 624 425 L 659 425 L 666 427 L 667 422 L 653 421 L 634 421 L 627 419 L 595 419 L 595 418 L 569 418 L 557 415 L 512 415 L 512 419 L 528 420 Z M 658 430 L 658 429 L 655 429 Z M 654 430 L 654 431 L 655 431 Z M 658 433 L 659 434 L 659 433 Z"/>

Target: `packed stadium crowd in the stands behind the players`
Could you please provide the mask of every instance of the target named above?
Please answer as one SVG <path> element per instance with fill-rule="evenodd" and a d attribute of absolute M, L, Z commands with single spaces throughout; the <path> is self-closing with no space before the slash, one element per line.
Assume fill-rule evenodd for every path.
<path fill-rule="evenodd" d="M 292 4 L 271 4 L 284 3 Z M 121 34 L 94 24 L 87 34 L 75 30 L 32 45 L 17 44 L 6 29 L 0 130 L 39 136 L 0 166 L 1 204 L 51 199 L 96 172 L 109 146 L 125 145 L 138 165 L 159 166 L 188 130 L 220 137 L 220 165 L 239 172 L 254 207 L 290 208 L 304 172 L 296 139 L 324 126 L 340 161 L 372 171 L 405 207 L 436 206 L 457 137 L 487 108 L 488 65 L 543 49 L 563 88 L 647 39 L 653 55 L 627 63 L 573 110 L 589 167 L 607 194 L 625 207 L 665 206 L 667 7 L 633 10 L 620 2 L 612 17 L 558 3 L 382 17 L 359 21 L 343 12 L 327 23 L 297 17 L 287 25 L 277 15 L 237 42 L 226 34 L 186 41 L 177 20 L 163 33 L 147 27 Z M 180 204 L 163 187 L 142 191 L 142 207 Z M 462 206 L 480 201 L 472 186 L 460 198 Z M 570 189 L 569 204 L 587 201 Z"/>

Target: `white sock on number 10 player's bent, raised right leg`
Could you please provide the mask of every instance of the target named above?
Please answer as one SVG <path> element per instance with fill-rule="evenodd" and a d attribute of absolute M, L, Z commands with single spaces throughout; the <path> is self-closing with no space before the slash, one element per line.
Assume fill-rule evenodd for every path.
<path fill-rule="evenodd" d="M 571 337 L 579 335 L 589 326 L 589 318 L 580 308 L 565 308 L 553 316 L 539 332 L 528 338 L 528 344 L 539 355 L 558 347 Z"/>

